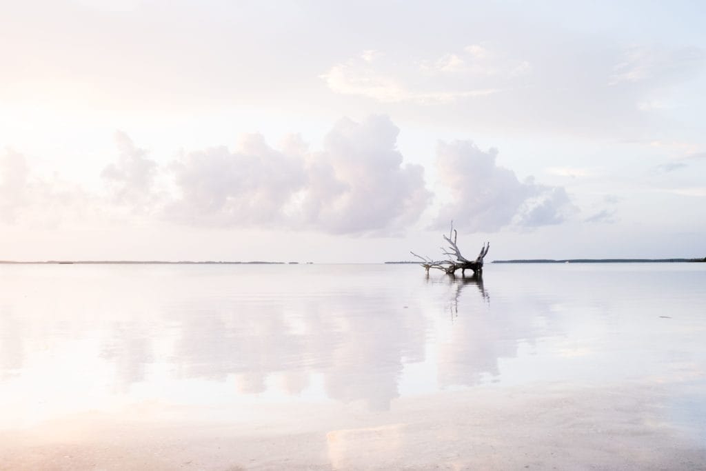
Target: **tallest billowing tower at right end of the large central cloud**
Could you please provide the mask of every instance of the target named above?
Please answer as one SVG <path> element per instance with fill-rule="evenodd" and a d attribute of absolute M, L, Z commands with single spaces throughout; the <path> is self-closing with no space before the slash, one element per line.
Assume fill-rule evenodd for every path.
<path fill-rule="evenodd" d="M 402 165 L 399 131 L 388 117 L 338 121 L 312 156 L 306 222 L 338 233 L 395 232 L 416 222 L 431 193 L 423 167 Z"/>

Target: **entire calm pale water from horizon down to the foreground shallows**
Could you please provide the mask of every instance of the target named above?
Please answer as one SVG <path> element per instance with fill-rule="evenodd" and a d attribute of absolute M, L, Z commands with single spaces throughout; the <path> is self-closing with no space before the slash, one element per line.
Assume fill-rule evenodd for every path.
<path fill-rule="evenodd" d="M 699 469 L 705 373 L 703 263 L 0 266 L 8 467 Z"/>

